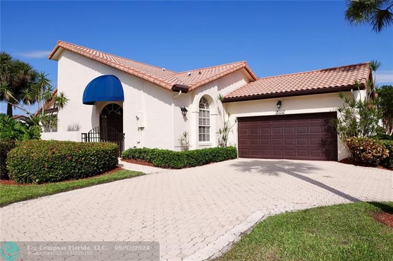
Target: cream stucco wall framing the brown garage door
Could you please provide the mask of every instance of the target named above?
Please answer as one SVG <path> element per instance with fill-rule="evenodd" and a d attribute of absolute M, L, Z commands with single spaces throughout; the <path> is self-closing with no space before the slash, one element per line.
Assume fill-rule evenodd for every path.
<path fill-rule="evenodd" d="M 359 96 L 357 91 L 354 94 L 351 94 L 351 92 L 346 92 L 345 94 L 348 96 Z M 278 100 L 281 101 L 280 109 L 285 110 L 285 114 L 330 112 L 336 111 L 337 107 L 342 105 L 338 93 L 328 93 L 225 103 L 225 110 L 232 113 L 232 122 L 240 117 L 276 115 Z M 348 157 L 348 153 L 342 141 L 339 138 L 337 140 L 338 160 L 341 160 Z M 237 124 L 230 133 L 229 141 L 231 144 L 237 145 Z"/>

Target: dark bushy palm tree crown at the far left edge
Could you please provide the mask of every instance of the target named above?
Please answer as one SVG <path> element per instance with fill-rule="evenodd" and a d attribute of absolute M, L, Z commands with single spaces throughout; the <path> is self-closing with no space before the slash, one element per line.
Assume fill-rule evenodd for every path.
<path fill-rule="evenodd" d="M 30 114 L 23 104 L 35 102 L 32 89 L 37 72 L 28 63 L 14 60 L 6 52 L 0 52 L 0 60 L 0 100 L 7 103 L 7 115 L 12 116 L 13 106 Z"/>

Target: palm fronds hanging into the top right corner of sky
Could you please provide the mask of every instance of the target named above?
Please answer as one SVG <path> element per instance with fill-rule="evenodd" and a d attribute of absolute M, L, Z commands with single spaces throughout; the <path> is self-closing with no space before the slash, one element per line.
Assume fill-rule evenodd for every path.
<path fill-rule="evenodd" d="M 393 0 L 348 0 L 345 19 L 354 25 L 371 24 L 376 32 L 393 24 Z"/>

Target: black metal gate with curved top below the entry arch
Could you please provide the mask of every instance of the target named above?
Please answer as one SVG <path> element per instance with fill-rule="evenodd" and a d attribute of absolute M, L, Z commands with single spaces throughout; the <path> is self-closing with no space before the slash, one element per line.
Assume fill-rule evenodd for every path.
<path fill-rule="evenodd" d="M 119 156 L 124 152 L 124 133 L 112 127 L 95 127 L 87 133 L 82 133 L 83 142 L 112 142 L 119 146 Z"/>

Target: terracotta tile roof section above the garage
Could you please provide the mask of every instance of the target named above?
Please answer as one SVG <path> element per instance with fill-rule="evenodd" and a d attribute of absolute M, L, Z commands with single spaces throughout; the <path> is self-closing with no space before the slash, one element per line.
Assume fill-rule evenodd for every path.
<path fill-rule="evenodd" d="M 225 102 L 350 90 L 371 77 L 369 63 L 259 78 L 225 96 Z"/>

